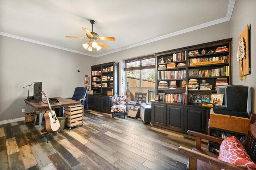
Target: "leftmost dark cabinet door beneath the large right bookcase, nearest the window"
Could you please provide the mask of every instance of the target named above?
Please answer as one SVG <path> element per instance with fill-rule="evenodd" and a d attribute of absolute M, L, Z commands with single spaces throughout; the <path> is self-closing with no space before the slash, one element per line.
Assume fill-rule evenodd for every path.
<path fill-rule="evenodd" d="M 151 122 L 156 125 L 166 126 L 166 104 L 152 103 Z"/>

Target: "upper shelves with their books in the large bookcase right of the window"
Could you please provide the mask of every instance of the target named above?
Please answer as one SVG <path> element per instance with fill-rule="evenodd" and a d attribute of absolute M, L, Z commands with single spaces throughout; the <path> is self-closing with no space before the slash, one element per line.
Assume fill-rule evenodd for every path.
<path fill-rule="evenodd" d="M 168 102 L 174 100 L 167 94 L 179 96 L 185 92 L 185 85 L 193 99 L 190 102 L 202 103 L 201 98 L 217 92 L 216 86 L 232 84 L 232 38 L 155 55 L 156 94 L 165 94 Z M 200 97 L 194 100 L 194 96 Z"/>

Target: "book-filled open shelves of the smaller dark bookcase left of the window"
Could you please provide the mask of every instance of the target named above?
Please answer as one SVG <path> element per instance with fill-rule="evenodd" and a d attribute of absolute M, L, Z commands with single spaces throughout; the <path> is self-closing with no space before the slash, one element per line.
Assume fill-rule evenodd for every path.
<path fill-rule="evenodd" d="M 113 96 L 119 94 L 119 63 L 110 62 L 91 66 L 93 94 Z"/>

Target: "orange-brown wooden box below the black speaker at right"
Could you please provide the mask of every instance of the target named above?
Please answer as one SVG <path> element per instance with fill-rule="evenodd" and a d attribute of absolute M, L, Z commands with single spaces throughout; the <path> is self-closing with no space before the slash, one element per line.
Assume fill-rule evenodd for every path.
<path fill-rule="evenodd" d="M 221 115 L 210 111 L 210 126 L 232 132 L 247 134 L 250 120 L 244 117 Z"/>

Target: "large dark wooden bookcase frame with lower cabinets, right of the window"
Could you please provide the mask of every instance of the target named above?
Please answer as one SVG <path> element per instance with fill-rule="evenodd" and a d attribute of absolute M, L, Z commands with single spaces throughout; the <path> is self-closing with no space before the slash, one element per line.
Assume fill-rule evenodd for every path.
<path fill-rule="evenodd" d="M 228 47 L 228 51 L 218 52 L 215 50 L 218 47 Z M 202 54 L 202 50 L 205 50 L 206 53 Z M 189 51 L 198 50 L 198 55 L 188 55 Z M 213 51 L 213 53 L 208 53 L 209 51 Z M 178 61 L 174 60 L 173 57 L 176 54 L 182 53 L 183 58 L 179 58 Z M 199 45 L 192 45 L 189 47 L 183 47 L 179 49 L 164 51 L 160 53 L 156 53 L 156 94 L 164 93 L 164 94 L 182 94 L 186 90 L 182 88 L 182 81 L 186 81 L 186 85 L 188 85 L 188 80 L 197 79 L 199 85 L 202 84 L 202 80 L 206 80 L 206 83 L 212 85 L 212 90 L 188 90 L 190 94 L 212 94 L 216 93 L 215 90 L 216 80 L 217 78 L 227 78 L 228 84 L 232 84 L 232 38 L 223 39 L 219 41 L 213 41 L 209 43 L 203 43 Z M 200 59 L 212 57 L 223 57 L 229 55 L 229 62 L 227 63 L 208 63 L 192 66 L 191 59 Z M 161 58 L 164 57 L 164 62 L 161 63 Z M 167 61 L 166 59 L 169 59 Z M 179 63 L 185 63 L 183 66 L 177 66 Z M 174 68 L 167 68 L 167 64 L 175 64 Z M 166 65 L 159 68 L 160 65 Z M 228 76 L 188 76 L 188 72 L 191 70 L 210 70 L 216 69 L 223 66 L 229 66 L 229 75 Z M 159 78 L 159 73 L 161 71 L 176 71 L 176 77 L 168 77 L 168 78 Z M 184 73 L 186 72 L 186 73 Z M 177 74 L 179 73 L 179 74 Z M 182 74 L 184 73 L 184 74 Z M 181 76 L 183 75 L 183 76 Z M 160 89 L 158 88 L 160 81 L 167 81 L 170 85 L 170 81 L 176 81 L 177 89 Z M 190 95 L 189 95 L 190 96 Z M 207 125 L 210 118 L 210 108 L 204 107 L 202 103 L 192 103 L 184 104 L 182 102 L 166 102 L 166 101 L 152 101 L 152 111 L 151 111 L 151 123 L 153 125 L 157 125 L 159 127 L 163 127 L 166 129 L 170 129 L 173 131 L 178 131 L 181 133 L 186 133 L 188 130 L 197 131 L 200 133 L 207 133 Z"/>

